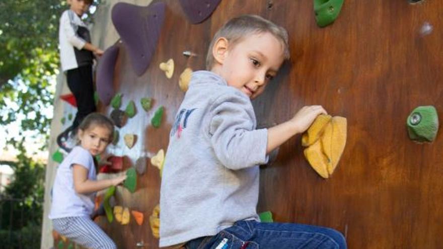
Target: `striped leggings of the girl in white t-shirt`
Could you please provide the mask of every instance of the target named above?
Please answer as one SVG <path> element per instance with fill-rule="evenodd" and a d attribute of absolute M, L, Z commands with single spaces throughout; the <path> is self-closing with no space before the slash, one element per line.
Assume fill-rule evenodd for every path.
<path fill-rule="evenodd" d="M 114 241 L 89 217 L 53 219 L 54 229 L 68 239 L 91 249 L 116 249 Z"/>

